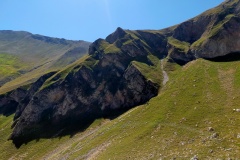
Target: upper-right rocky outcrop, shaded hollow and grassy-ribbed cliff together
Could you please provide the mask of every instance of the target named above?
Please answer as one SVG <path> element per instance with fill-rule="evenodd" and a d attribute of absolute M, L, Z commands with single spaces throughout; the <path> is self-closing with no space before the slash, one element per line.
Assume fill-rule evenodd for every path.
<path fill-rule="evenodd" d="M 230 0 L 190 19 L 173 30 L 172 36 L 190 43 L 187 54 L 170 47 L 170 57 L 181 64 L 196 58 L 216 58 L 240 51 L 240 2 Z"/>

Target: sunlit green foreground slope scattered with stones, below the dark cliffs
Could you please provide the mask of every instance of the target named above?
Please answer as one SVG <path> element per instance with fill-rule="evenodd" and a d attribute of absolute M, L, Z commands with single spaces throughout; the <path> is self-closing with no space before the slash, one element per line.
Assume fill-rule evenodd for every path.
<path fill-rule="evenodd" d="M 71 138 L 40 139 L 15 149 L 6 142 L 12 116 L 0 117 L 1 158 L 239 159 L 240 113 L 233 111 L 240 104 L 239 64 L 199 59 L 177 67 L 147 104 L 112 121 L 97 120 Z M 219 137 L 211 138 L 214 133 Z"/>

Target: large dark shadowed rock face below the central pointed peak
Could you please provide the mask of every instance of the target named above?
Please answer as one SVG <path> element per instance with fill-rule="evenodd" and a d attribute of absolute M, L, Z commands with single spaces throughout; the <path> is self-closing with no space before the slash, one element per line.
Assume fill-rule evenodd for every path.
<path fill-rule="evenodd" d="M 111 46 L 117 41 L 122 46 L 119 53 L 106 54 L 102 45 Z M 96 118 L 118 115 L 156 96 L 159 84 L 146 79 L 132 64 L 136 60 L 151 65 L 147 57 L 151 47 L 147 48 L 140 39 L 131 39 L 127 44 L 123 41 L 124 37 L 109 44 L 99 39 L 90 46 L 86 60 L 86 64 L 94 65 L 77 65 L 64 79 L 40 90 L 50 75 L 32 85 L 29 95 L 18 106 L 10 137 L 13 142 L 18 146 L 34 138 L 51 137 L 69 126 L 81 128 Z M 58 74 L 52 81 L 60 77 Z"/>

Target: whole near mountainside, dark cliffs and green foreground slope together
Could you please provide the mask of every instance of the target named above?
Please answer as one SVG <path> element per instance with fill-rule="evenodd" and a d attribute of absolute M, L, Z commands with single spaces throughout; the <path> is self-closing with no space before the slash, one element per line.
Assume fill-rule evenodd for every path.
<path fill-rule="evenodd" d="M 163 30 L 117 28 L 66 68 L 0 95 L 11 115 L 0 133 L 20 147 L 3 141 L 3 156 L 239 159 L 239 9 L 228 0 Z"/>

